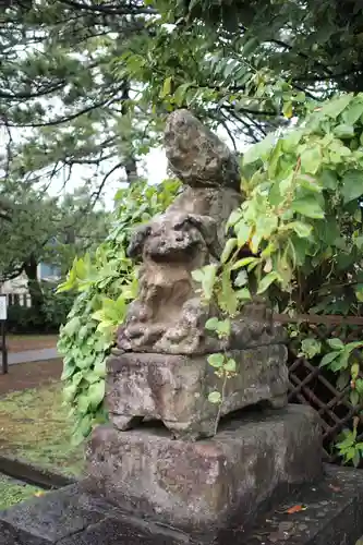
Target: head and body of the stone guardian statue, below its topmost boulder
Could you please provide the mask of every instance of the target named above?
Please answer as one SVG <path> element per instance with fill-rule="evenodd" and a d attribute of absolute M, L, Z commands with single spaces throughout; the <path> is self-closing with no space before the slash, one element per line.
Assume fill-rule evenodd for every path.
<path fill-rule="evenodd" d="M 122 350 L 174 354 L 207 351 L 204 326 L 216 310 L 201 301 L 192 271 L 218 263 L 225 225 L 239 195 L 206 189 L 186 197 L 182 194 L 164 215 L 132 237 L 129 255 L 141 257 L 143 263 L 137 299 L 118 332 Z"/>

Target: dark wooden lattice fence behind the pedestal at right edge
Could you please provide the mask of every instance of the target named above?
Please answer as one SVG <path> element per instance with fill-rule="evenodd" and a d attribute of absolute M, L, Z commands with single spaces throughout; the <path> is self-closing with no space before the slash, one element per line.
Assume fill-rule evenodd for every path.
<path fill-rule="evenodd" d="M 275 318 L 283 324 L 300 324 L 304 336 L 324 341 L 332 337 L 343 342 L 363 339 L 363 317 L 303 315 L 290 318 L 277 315 Z M 299 339 L 299 338 L 298 338 Z M 308 361 L 299 355 L 298 341 L 292 340 L 289 347 L 289 401 L 313 407 L 322 417 L 324 453 L 326 461 L 340 462 L 339 453 L 334 445 L 344 428 L 358 425 L 358 440 L 363 440 L 363 403 L 353 405 L 350 401 L 351 385 L 337 387 L 338 374 L 320 367 L 320 356 Z M 363 377 L 363 359 L 361 351 L 354 352 L 354 360 L 361 364 Z"/>

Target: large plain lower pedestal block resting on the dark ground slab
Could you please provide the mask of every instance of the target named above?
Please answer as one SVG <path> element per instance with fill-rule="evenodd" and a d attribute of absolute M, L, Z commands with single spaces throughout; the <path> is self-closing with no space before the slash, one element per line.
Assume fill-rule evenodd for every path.
<path fill-rule="evenodd" d="M 210 544 L 225 528 L 251 523 L 281 486 L 322 475 L 320 425 L 311 408 L 257 412 L 221 427 L 213 439 L 181 441 L 164 428 L 100 426 L 87 447 L 86 489 Z"/>

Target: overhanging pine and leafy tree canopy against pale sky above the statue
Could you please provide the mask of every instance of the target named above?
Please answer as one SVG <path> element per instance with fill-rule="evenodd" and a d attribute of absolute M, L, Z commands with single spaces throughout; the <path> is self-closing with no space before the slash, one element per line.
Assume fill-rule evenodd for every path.
<path fill-rule="evenodd" d="M 322 100 L 362 89 L 358 1 L 39 0 L 3 9 L 3 164 L 19 180 L 92 169 L 95 197 L 133 181 L 168 111 L 257 142 Z M 87 180 L 90 183 L 90 180 Z"/>

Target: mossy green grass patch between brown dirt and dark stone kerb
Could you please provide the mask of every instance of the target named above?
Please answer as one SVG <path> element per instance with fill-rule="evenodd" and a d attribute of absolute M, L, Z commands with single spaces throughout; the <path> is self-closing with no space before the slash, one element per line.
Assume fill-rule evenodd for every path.
<path fill-rule="evenodd" d="M 65 475 L 81 475 L 84 447 L 71 445 L 72 422 L 60 383 L 14 391 L 0 399 L 0 455 Z"/>

